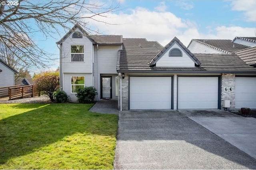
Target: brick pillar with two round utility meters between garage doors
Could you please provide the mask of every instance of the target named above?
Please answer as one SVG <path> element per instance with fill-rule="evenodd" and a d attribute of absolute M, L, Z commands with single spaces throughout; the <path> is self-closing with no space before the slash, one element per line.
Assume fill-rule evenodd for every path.
<path fill-rule="evenodd" d="M 225 90 L 228 88 L 228 90 Z M 233 90 L 230 90 L 233 88 Z M 235 109 L 235 74 L 221 74 L 221 108 L 223 107 L 223 100 L 230 100 L 230 110 Z"/>

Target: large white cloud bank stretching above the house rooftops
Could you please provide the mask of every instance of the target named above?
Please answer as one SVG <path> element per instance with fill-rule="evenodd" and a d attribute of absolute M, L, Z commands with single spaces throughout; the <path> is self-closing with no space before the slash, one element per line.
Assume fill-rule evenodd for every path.
<path fill-rule="evenodd" d="M 99 19 L 99 18 L 97 18 Z M 146 38 L 148 41 L 158 41 L 166 45 L 175 36 L 187 46 L 191 39 L 234 39 L 236 36 L 255 36 L 255 28 L 237 26 L 206 27 L 208 33 L 200 33 L 198 24 L 191 20 L 178 18 L 171 12 L 150 11 L 137 7 L 129 14 L 108 13 L 105 22 L 109 25 L 90 21 L 104 34 L 123 35 L 124 38 Z M 207 31 L 206 31 L 207 32 Z"/>

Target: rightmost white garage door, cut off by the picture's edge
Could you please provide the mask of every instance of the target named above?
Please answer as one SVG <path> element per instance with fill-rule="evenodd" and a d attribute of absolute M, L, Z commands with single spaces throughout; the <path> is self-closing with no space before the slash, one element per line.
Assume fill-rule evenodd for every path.
<path fill-rule="evenodd" d="M 235 105 L 256 108 L 256 77 L 236 77 Z"/>

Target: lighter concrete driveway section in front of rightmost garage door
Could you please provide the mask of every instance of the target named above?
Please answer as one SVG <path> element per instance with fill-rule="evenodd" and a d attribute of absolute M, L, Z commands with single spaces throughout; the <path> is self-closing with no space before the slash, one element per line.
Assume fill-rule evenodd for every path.
<path fill-rule="evenodd" d="M 196 123 L 256 159 L 256 119 L 223 110 L 180 111 Z"/>

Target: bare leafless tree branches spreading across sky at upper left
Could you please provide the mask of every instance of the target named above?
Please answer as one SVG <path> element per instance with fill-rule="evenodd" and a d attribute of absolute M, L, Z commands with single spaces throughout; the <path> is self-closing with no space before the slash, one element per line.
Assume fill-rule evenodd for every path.
<path fill-rule="evenodd" d="M 106 13 L 114 12 L 119 4 L 97 4 L 86 0 L 0 0 L 0 44 L 5 45 L 16 59 L 34 66 L 45 67 L 51 54 L 36 44 L 33 36 L 42 33 L 44 38 L 79 23 L 88 32 L 90 20 L 104 22 Z M 98 16 L 102 20 L 98 20 Z M 38 39 L 37 39 L 38 40 Z M 18 53 L 17 53 L 18 52 Z"/>

